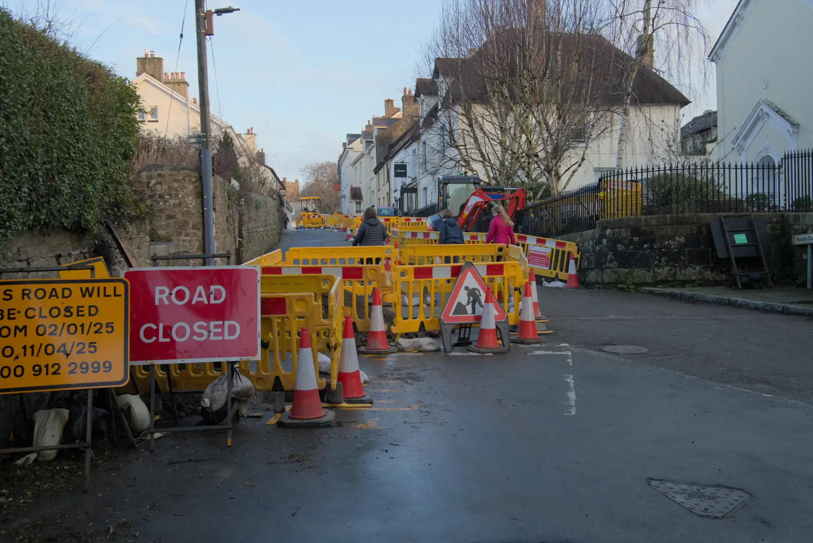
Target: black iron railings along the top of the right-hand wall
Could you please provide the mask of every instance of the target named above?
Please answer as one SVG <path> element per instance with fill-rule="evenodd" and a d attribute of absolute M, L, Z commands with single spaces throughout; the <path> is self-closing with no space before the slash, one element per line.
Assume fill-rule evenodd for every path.
<path fill-rule="evenodd" d="M 600 219 L 687 213 L 813 211 L 813 151 L 779 164 L 694 163 L 637 167 L 526 206 L 517 232 L 556 237 Z"/>

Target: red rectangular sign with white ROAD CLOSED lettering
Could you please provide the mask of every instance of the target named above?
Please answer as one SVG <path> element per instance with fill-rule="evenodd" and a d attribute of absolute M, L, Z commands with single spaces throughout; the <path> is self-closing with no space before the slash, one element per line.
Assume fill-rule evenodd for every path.
<path fill-rule="evenodd" d="M 141 267 L 130 281 L 130 365 L 259 359 L 259 268 Z"/>

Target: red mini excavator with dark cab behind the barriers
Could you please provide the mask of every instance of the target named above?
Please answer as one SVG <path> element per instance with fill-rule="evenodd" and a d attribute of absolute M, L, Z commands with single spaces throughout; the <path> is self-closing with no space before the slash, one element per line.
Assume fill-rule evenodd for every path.
<path fill-rule="evenodd" d="M 450 209 L 464 232 L 476 232 L 484 211 L 491 215 L 489 202 L 499 202 L 511 219 L 525 207 L 525 189 L 508 189 L 482 185 L 477 176 L 439 176 L 437 179 L 437 215 L 429 217 L 429 225 L 440 228 L 439 214 Z M 488 228 L 487 225 L 484 228 Z"/>

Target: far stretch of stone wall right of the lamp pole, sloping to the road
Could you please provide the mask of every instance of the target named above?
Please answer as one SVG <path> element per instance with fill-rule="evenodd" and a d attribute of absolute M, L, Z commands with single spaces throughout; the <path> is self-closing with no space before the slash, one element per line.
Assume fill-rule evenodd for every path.
<path fill-rule="evenodd" d="M 282 233 L 282 217 L 279 198 L 244 193 L 240 202 L 237 262 L 248 262 L 276 245 Z"/>

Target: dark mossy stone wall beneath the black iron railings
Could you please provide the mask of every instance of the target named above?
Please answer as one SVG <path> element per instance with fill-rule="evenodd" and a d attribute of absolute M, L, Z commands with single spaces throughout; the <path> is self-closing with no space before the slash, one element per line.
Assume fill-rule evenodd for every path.
<path fill-rule="evenodd" d="M 656 285 L 728 285 L 733 282 L 731 263 L 717 258 L 711 235 L 710 222 L 718 216 L 603 219 L 592 231 L 561 239 L 579 244 L 579 279 L 584 286 L 634 289 Z M 767 223 L 772 245 L 768 262 L 772 279 L 802 285 L 806 252 L 802 247 L 789 248 L 788 238 L 793 233 L 813 230 L 813 214 L 761 213 L 754 217 Z"/>

